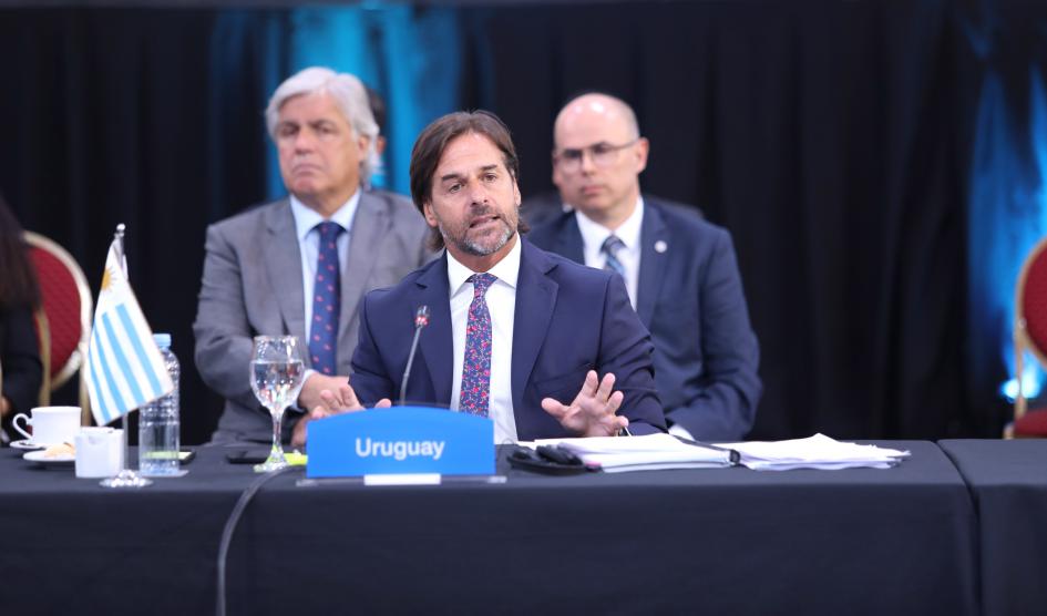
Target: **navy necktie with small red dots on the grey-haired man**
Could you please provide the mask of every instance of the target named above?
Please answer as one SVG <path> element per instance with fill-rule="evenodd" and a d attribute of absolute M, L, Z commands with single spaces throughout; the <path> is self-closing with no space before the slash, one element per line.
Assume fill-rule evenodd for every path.
<path fill-rule="evenodd" d="M 309 355 L 312 369 L 333 374 L 337 363 L 338 311 L 341 308 L 341 274 L 338 266 L 338 235 L 341 225 L 326 220 L 315 228 L 320 232 L 320 250 L 316 260 L 316 281 L 312 286 L 312 326 L 309 335 Z"/>

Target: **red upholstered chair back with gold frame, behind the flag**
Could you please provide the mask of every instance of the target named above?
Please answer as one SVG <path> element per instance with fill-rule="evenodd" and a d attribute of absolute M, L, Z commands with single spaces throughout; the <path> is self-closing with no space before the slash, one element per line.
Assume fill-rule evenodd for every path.
<path fill-rule="evenodd" d="M 48 340 L 49 347 L 50 367 L 44 380 L 54 391 L 76 374 L 88 358 L 93 299 L 83 270 L 64 248 L 32 232 L 25 232 L 25 243 L 37 269 L 45 316 L 37 325 L 41 341 Z M 83 423 L 90 423 L 91 409 L 82 377 L 79 398 Z"/>

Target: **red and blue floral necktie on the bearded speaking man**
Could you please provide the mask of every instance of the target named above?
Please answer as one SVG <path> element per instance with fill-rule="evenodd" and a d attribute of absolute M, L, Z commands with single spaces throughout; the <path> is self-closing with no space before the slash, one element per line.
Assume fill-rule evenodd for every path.
<path fill-rule="evenodd" d="M 462 362 L 462 393 L 459 410 L 487 417 L 491 394 L 491 312 L 484 294 L 494 281 L 491 274 L 473 274 L 473 301 L 465 322 L 465 360 Z"/>

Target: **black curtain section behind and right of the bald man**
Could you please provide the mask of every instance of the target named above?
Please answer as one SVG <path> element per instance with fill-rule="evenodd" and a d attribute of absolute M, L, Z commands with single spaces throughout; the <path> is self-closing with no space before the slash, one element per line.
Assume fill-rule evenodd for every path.
<path fill-rule="evenodd" d="M 912 0 L 522 8 L 483 20 L 475 55 L 524 194 L 551 186 L 565 97 L 608 90 L 651 141 L 645 189 L 732 232 L 762 349 L 755 437 L 934 438 L 971 419 L 973 92 L 952 19 Z"/>

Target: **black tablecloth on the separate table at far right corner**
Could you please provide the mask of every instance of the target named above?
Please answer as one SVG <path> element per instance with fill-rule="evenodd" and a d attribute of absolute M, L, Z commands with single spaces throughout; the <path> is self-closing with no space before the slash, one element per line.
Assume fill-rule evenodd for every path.
<path fill-rule="evenodd" d="M 974 495 L 983 613 L 1047 614 L 1047 440 L 940 444 Z"/>

